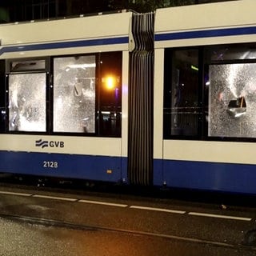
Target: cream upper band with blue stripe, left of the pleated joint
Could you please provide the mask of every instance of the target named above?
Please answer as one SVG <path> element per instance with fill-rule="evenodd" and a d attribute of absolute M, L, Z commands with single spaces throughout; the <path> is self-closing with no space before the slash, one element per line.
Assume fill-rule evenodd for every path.
<path fill-rule="evenodd" d="M 130 12 L 0 26 L 0 58 L 129 49 Z"/>

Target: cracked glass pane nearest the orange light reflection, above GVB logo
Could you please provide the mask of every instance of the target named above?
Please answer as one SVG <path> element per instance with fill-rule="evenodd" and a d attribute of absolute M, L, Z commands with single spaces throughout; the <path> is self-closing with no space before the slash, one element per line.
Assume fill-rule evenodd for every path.
<path fill-rule="evenodd" d="M 95 56 L 54 58 L 54 132 L 95 132 Z"/>

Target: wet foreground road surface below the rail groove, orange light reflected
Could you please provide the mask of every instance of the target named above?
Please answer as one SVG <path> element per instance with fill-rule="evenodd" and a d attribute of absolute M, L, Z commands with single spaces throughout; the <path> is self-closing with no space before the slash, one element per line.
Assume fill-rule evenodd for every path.
<path fill-rule="evenodd" d="M 0 255 L 255 255 L 240 247 L 126 234 L 109 230 L 73 230 L 0 219 Z"/>

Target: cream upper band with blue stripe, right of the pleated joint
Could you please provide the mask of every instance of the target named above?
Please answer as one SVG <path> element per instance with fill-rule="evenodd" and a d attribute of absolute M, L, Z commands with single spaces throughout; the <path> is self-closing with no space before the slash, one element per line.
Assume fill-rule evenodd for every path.
<path fill-rule="evenodd" d="M 255 42 L 256 34 L 230 31 L 228 35 L 224 31 L 255 26 L 255 8 L 254 0 L 238 0 L 158 9 L 155 48 Z M 169 38 L 165 40 L 162 35 L 166 34 Z"/>

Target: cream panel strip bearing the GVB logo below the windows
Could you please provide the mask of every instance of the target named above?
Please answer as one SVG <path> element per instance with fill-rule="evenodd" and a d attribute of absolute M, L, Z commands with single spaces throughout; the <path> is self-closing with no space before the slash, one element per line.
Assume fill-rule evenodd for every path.
<path fill-rule="evenodd" d="M 110 157 L 121 155 L 122 144 L 121 138 L 102 137 L 0 134 L 0 139 L 0 150 Z"/>

